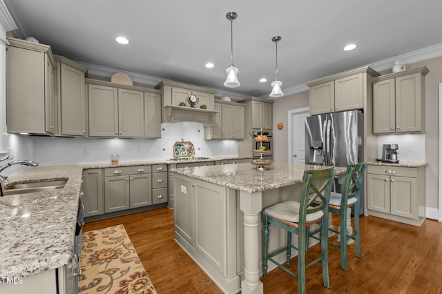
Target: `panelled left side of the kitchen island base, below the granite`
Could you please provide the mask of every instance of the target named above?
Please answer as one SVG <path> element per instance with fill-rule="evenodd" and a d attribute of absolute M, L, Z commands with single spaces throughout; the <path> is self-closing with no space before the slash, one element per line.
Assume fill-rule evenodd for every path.
<path fill-rule="evenodd" d="M 236 191 L 181 175 L 174 181 L 175 240 L 224 293 L 238 293 Z"/>

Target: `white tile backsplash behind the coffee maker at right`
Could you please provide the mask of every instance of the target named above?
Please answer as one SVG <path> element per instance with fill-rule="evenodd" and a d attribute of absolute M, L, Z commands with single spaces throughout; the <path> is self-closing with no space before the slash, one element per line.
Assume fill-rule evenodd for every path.
<path fill-rule="evenodd" d="M 378 158 L 382 157 L 383 144 L 398 144 L 399 161 L 425 162 L 425 134 L 378 136 Z"/>

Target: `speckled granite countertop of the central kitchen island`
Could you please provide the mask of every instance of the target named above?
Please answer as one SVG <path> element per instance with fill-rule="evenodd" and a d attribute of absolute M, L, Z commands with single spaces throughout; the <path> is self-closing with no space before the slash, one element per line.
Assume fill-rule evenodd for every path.
<path fill-rule="evenodd" d="M 323 169 L 327 166 L 287 164 L 274 162 L 267 170 L 256 170 L 252 164 L 228 164 L 224 166 L 200 166 L 172 168 L 173 173 L 201 179 L 204 182 L 256 193 L 263 190 L 289 186 L 302 182 L 305 170 Z M 336 175 L 345 174 L 347 168 L 335 167 Z"/>

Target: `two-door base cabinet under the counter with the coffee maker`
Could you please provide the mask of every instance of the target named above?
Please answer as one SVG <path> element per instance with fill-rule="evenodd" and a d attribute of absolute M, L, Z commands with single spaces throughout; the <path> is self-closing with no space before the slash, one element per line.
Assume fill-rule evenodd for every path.
<path fill-rule="evenodd" d="M 425 166 L 367 166 L 367 213 L 421 226 L 425 219 Z"/>

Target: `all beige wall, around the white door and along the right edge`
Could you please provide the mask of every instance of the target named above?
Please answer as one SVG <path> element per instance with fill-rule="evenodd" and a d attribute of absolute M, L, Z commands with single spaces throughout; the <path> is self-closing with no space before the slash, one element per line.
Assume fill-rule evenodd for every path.
<path fill-rule="evenodd" d="M 430 72 L 425 76 L 425 159 L 426 207 L 436 210 L 439 205 L 439 83 L 442 83 L 442 57 L 406 64 L 407 69 L 426 66 Z M 390 73 L 391 70 L 381 72 Z M 309 91 L 276 99 L 273 103 L 274 160 L 288 161 L 288 111 L 309 107 Z M 276 125 L 282 122 L 284 128 Z"/>

